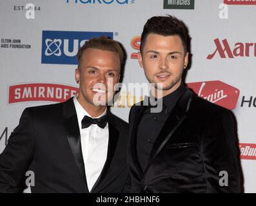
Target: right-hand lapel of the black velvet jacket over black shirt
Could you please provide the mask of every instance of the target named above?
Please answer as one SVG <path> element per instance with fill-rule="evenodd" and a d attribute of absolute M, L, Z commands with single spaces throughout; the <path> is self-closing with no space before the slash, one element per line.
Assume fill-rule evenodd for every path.
<path fill-rule="evenodd" d="M 168 142 L 168 140 L 172 137 L 173 133 L 176 129 L 182 124 L 182 122 L 186 119 L 186 112 L 190 108 L 190 103 L 192 101 L 192 91 L 186 89 L 184 94 L 179 98 L 177 104 L 173 108 L 172 112 L 168 116 L 164 126 L 162 127 L 155 143 L 153 144 L 152 151 L 150 153 L 150 157 L 148 158 L 148 164 L 146 165 L 146 169 L 144 173 L 148 171 L 152 161 L 155 159 L 155 156 L 160 153 L 162 147 Z"/>

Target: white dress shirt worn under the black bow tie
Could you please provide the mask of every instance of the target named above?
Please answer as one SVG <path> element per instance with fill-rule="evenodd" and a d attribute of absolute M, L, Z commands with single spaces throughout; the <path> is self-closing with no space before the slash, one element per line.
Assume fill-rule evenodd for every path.
<path fill-rule="evenodd" d="M 103 129 L 97 126 L 97 124 L 92 124 L 90 127 L 82 129 L 84 115 L 87 115 L 88 117 L 91 116 L 81 106 L 76 97 L 74 97 L 73 100 L 81 135 L 86 181 L 88 189 L 91 191 L 106 162 L 108 153 L 108 123 Z M 99 117 L 102 117 L 103 115 L 106 115 L 106 110 L 99 115 Z"/>

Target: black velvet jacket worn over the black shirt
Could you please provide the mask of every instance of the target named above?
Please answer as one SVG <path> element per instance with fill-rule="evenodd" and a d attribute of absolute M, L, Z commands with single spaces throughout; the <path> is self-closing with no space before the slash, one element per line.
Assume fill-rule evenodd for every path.
<path fill-rule="evenodd" d="M 131 192 L 240 192 L 230 111 L 186 89 L 153 144 L 143 171 L 137 160 L 136 139 L 144 108 L 134 105 L 129 117 Z M 228 185 L 221 186 L 223 183 Z"/>

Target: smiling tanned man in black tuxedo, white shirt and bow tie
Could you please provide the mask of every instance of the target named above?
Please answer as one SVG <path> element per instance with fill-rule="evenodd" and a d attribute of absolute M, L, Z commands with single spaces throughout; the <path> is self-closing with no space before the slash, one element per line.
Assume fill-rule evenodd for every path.
<path fill-rule="evenodd" d="M 23 111 L 0 155 L 0 192 L 23 191 L 27 171 L 34 173 L 32 192 L 123 191 L 128 124 L 107 108 L 123 50 L 97 37 L 82 46 L 77 59 L 77 97 Z"/>

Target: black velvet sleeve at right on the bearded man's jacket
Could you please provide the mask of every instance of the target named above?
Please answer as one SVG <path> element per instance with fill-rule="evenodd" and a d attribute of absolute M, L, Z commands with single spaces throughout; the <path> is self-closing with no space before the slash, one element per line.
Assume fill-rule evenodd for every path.
<path fill-rule="evenodd" d="M 234 122 L 220 109 L 208 121 L 202 138 L 207 192 L 241 192 Z"/>

